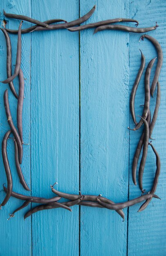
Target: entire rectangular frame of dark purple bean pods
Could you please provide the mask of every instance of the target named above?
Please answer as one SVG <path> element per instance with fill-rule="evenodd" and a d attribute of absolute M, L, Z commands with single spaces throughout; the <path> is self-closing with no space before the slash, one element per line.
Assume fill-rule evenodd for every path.
<path fill-rule="evenodd" d="M 5 39 L 6 39 L 6 44 L 7 44 L 7 79 L 2 81 L 2 83 L 9 83 L 9 87 L 11 91 L 13 92 L 13 95 L 18 99 L 18 104 L 17 104 L 17 128 L 14 126 L 12 117 L 11 117 L 11 112 L 10 112 L 10 107 L 9 107 L 9 99 L 8 99 L 8 90 L 5 90 L 4 92 L 4 107 L 6 110 L 6 115 L 7 115 L 7 121 L 10 126 L 10 130 L 6 132 L 4 135 L 4 138 L 2 140 L 2 158 L 3 158 L 3 163 L 4 163 L 4 169 L 6 172 L 7 176 L 7 187 L 4 187 L 4 191 L 6 192 L 6 196 L 3 200 L 3 202 L 0 204 L 0 206 L 4 206 L 9 198 L 15 197 L 20 200 L 24 200 L 25 202 L 15 211 L 13 211 L 12 214 L 10 214 L 10 217 L 13 217 L 14 214 L 26 207 L 29 203 L 39 203 L 40 205 L 37 207 L 34 207 L 30 209 L 24 216 L 24 218 L 27 218 L 31 216 L 31 214 L 36 213 L 37 211 L 45 210 L 45 209 L 53 209 L 53 208 L 63 208 L 69 211 L 71 210 L 71 206 L 73 205 L 82 205 L 82 206 L 87 206 L 87 207 L 99 207 L 99 208 L 107 208 L 110 210 L 115 210 L 124 220 L 124 213 L 122 211 L 123 208 L 132 206 L 134 204 L 137 204 L 139 202 L 145 201 L 141 207 L 139 208 L 139 211 L 144 210 L 149 202 L 152 200 L 152 198 L 159 198 L 157 195 L 155 195 L 155 191 L 157 188 L 157 183 L 159 179 L 159 174 L 160 174 L 160 157 L 159 154 L 157 153 L 156 149 L 152 145 L 151 141 L 149 142 L 149 138 L 151 138 L 153 128 L 155 125 L 155 121 L 157 119 L 157 114 L 158 114 L 158 109 L 159 109 L 159 104 L 160 104 L 160 84 L 159 84 L 159 73 L 162 67 L 162 61 L 163 61 L 163 56 L 162 56 L 162 48 L 157 42 L 157 40 L 151 36 L 148 36 L 144 34 L 141 36 L 141 39 L 143 40 L 144 38 L 147 38 L 148 40 L 153 43 L 153 45 L 157 49 L 157 67 L 155 70 L 155 75 L 153 78 L 152 85 L 150 87 L 150 72 L 153 67 L 153 64 L 156 60 L 156 58 L 153 58 L 150 63 L 148 64 L 146 68 L 146 74 L 145 74 L 145 101 L 144 101 L 144 110 L 142 113 L 142 116 L 140 117 L 139 122 L 137 123 L 136 117 L 135 117 L 135 95 L 137 92 L 137 88 L 139 85 L 139 81 L 141 79 L 144 67 L 145 67 L 145 57 L 143 53 L 141 52 L 141 67 L 139 69 L 137 78 L 135 80 L 134 86 L 132 88 L 131 96 L 130 96 L 130 111 L 132 115 L 132 119 L 135 123 L 135 128 L 132 130 L 138 130 L 142 124 L 144 124 L 144 131 L 141 135 L 141 138 L 139 140 L 139 143 L 137 145 L 136 151 L 135 151 L 135 156 L 133 159 L 133 164 L 132 164 L 132 178 L 133 182 L 136 185 L 136 171 L 137 171 L 137 164 L 139 160 L 139 156 L 141 154 L 141 149 L 143 148 L 143 154 L 141 157 L 141 162 L 139 166 L 139 187 L 141 189 L 141 196 L 138 198 L 135 198 L 133 200 L 128 200 L 127 202 L 122 202 L 122 203 L 114 203 L 113 201 L 109 200 L 108 198 L 102 197 L 102 195 L 83 195 L 81 191 L 79 191 L 79 194 L 67 194 L 60 192 L 58 190 L 54 189 L 54 184 L 53 186 L 51 185 L 52 192 L 56 194 L 55 197 L 52 198 L 39 198 L 39 197 L 34 197 L 34 196 L 27 196 L 27 195 L 21 195 L 18 193 L 13 192 L 13 181 L 12 181 L 12 175 L 11 175 L 11 170 L 9 166 L 9 161 L 7 157 L 7 141 L 9 139 L 9 136 L 11 133 L 13 134 L 13 142 L 15 146 L 15 162 L 16 162 L 16 168 L 17 172 L 20 178 L 20 183 L 26 190 L 30 190 L 24 176 L 22 174 L 21 170 L 21 162 L 22 162 L 22 156 L 23 156 L 23 148 L 22 144 L 23 142 L 23 137 L 22 137 L 22 107 L 23 107 L 23 100 L 24 100 L 24 76 L 23 72 L 20 68 L 21 66 L 21 34 L 24 33 L 29 33 L 33 31 L 41 31 L 41 30 L 56 30 L 56 29 L 68 29 L 69 31 L 81 31 L 84 29 L 88 28 L 93 28 L 95 27 L 96 29 L 94 30 L 94 33 L 98 31 L 102 31 L 105 29 L 109 30 L 122 30 L 126 32 L 133 32 L 133 33 L 145 33 L 147 31 L 154 30 L 158 27 L 157 23 L 154 27 L 146 27 L 146 28 L 137 28 L 139 22 L 137 20 L 133 19 L 126 19 L 126 18 L 115 18 L 112 20 L 103 20 L 95 23 L 90 23 L 87 25 L 80 25 L 82 22 L 86 21 L 92 13 L 94 13 L 96 6 L 94 6 L 87 14 L 82 16 L 81 18 L 77 20 L 73 20 L 70 22 L 67 22 L 66 20 L 63 19 L 52 19 L 52 20 L 46 20 L 44 22 L 40 22 L 38 20 L 34 20 L 32 18 L 29 18 L 27 16 L 22 16 L 22 15 L 16 15 L 16 14 L 11 14 L 11 13 L 6 13 L 4 11 L 4 16 L 7 18 L 14 18 L 14 19 L 20 19 L 20 25 L 18 27 L 18 30 L 11 30 L 7 28 L 1 28 L 2 32 L 4 33 Z M 28 22 L 34 23 L 35 25 L 33 27 L 29 27 L 27 29 L 22 29 L 22 22 L 23 20 L 26 20 Z M 129 27 L 129 26 L 124 26 L 124 25 L 112 25 L 113 23 L 117 22 L 135 22 L 136 27 Z M 52 23 L 56 23 L 54 25 L 50 25 Z M 79 25 L 76 27 L 76 25 Z M 12 74 L 11 71 L 11 41 L 9 37 L 9 33 L 12 34 L 18 34 L 18 44 L 17 44 L 17 55 L 16 55 L 16 65 L 15 65 L 15 70 L 14 73 Z M 13 79 L 18 76 L 19 78 L 19 93 L 17 94 L 14 85 L 13 85 Z M 155 91 L 157 85 L 157 98 L 156 98 L 156 106 L 155 106 L 155 111 L 153 113 L 153 118 L 151 120 L 151 114 L 150 114 L 150 94 L 153 96 L 153 93 Z M 130 129 L 130 128 L 129 128 Z M 155 178 L 153 182 L 153 187 L 151 191 L 148 193 L 144 194 L 146 191 L 143 189 L 143 184 L 142 184 L 142 177 L 143 177 L 143 172 L 144 172 L 144 167 L 145 167 L 145 162 L 146 162 L 146 157 L 147 157 L 147 152 L 148 152 L 148 145 L 151 146 L 153 149 L 153 152 L 155 153 L 156 157 L 156 172 L 155 172 Z M 67 202 L 58 202 L 61 198 L 65 198 Z M 8 220 L 9 220 L 8 219 Z"/>

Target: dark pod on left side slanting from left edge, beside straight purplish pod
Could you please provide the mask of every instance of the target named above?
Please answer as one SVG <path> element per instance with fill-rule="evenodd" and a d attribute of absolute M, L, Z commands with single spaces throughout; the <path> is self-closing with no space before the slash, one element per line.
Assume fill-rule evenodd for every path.
<path fill-rule="evenodd" d="M 10 112 L 10 107 L 9 107 L 9 99 L 8 99 L 8 90 L 5 90 L 4 92 L 4 107 L 6 110 L 6 115 L 7 115 L 7 121 L 9 123 L 9 126 L 11 128 L 11 131 L 13 132 L 13 135 L 16 139 L 17 142 L 17 146 L 18 146 L 18 160 L 19 163 L 21 164 L 22 162 L 22 143 L 21 143 L 21 139 L 20 136 L 18 135 L 18 132 L 13 124 L 13 120 L 11 117 L 11 112 Z"/>

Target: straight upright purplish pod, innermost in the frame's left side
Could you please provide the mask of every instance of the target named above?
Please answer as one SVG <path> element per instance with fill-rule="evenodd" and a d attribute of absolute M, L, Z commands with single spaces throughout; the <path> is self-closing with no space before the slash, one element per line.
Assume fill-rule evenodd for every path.
<path fill-rule="evenodd" d="M 23 108 L 23 101 L 24 101 L 24 75 L 21 69 L 18 74 L 18 77 L 19 77 L 19 94 L 18 94 L 18 103 L 17 103 L 17 127 L 18 127 L 18 132 L 20 135 L 21 142 L 23 144 L 24 142 L 22 137 L 22 108 Z"/>

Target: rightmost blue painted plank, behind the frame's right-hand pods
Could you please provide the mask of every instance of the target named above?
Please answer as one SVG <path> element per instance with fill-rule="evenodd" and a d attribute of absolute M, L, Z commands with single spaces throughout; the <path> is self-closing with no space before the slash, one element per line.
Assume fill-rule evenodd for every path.
<path fill-rule="evenodd" d="M 166 255 L 166 36 L 165 36 L 165 12 L 166 2 L 159 0 L 151 1 L 132 1 L 130 3 L 130 18 L 139 20 L 139 26 L 153 26 L 155 21 L 158 22 L 159 27 L 155 31 L 148 32 L 149 35 L 155 37 L 162 46 L 164 53 L 164 63 L 162 72 L 159 76 L 161 84 L 161 106 L 159 109 L 158 119 L 154 128 L 153 145 L 161 157 L 161 175 L 157 186 L 157 195 L 162 200 L 153 199 L 148 207 L 137 213 L 141 206 L 135 205 L 129 209 L 128 220 L 128 255 Z M 142 50 L 146 57 L 146 66 L 150 59 L 157 56 L 155 47 L 148 41 L 139 41 L 139 35 L 130 35 L 130 91 L 134 83 L 137 71 L 139 70 L 141 56 L 139 49 Z M 156 67 L 156 64 L 155 64 Z M 151 81 L 155 72 L 155 67 L 152 71 Z M 143 76 L 144 77 L 144 76 Z M 150 100 L 150 108 L 153 112 L 155 107 L 156 92 L 154 98 Z M 135 108 L 136 113 L 141 114 L 140 104 L 144 103 L 144 78 L 138 88 Z M 134 126 L 130 118 L 130 126 Z M 137 187 L 132 183 L 132 159 L 135 153 L 135 148 L 139 141 L 141 131 L 130 132 L 130 199 L 141 195 L 139 186 Z M 155 155 L 151 148 L 148 150 L 148 158 L 144 171 L 143 184 L 144 189 L 150 190 L 153 184 L 155 175 Z M 138 176 L 137 176 L 138 177 Z M 138 182 L 137 182 L 138 184 Z"/>

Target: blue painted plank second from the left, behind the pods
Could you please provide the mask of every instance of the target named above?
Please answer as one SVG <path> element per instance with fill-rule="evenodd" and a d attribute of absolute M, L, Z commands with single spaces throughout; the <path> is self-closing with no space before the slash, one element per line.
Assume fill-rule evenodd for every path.
<path fill-rule="evenodd" d="M 32 17 L 76 19 L 79 1 L 33 0 Z M 31 170 L 33 195 L 79 191 L 79 35 L 66 30 L 31 33 Z M 78 255 L 79 207 L 34 214 L 32 242 L 33 255 Z"/>

